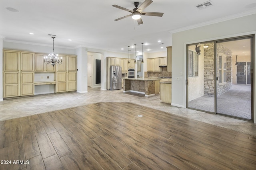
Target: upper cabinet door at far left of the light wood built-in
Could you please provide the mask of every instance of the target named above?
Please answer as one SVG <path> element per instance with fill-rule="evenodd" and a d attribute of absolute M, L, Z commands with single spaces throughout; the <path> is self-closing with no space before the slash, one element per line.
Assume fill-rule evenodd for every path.
<path fill-rule="evenodd" d="M 4 51 L 4 71 L 19 71 L 20 70 L 20 52 Z"/>

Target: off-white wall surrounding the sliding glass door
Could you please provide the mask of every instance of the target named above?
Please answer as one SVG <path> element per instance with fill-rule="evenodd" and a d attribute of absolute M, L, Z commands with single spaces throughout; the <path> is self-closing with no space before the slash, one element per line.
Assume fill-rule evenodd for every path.
<path fill-rule="evenodd" d="M 256 14 L 253 14 L 172 33 L 172 77 L 178 77 L 180 72 L 184 73 L 182 81 L 172 79 L 172 105 L 186 107 L 186 44 L 255 34 L 255 20 Z M 255 121 L 256 114 L 254 116 Z"/>

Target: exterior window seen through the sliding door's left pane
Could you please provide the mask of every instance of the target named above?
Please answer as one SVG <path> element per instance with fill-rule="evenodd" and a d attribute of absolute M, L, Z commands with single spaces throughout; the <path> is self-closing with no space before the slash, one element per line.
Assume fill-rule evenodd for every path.
<path fill-rule="evenodd" d="M 198 76 L 198 55 L 195 51 L 188 50 L 188 77 Z"/>

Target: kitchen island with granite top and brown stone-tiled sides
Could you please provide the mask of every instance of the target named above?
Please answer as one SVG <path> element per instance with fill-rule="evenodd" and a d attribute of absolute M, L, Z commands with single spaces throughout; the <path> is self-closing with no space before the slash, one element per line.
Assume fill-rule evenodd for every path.
<path fill-rule="evenodd" d="M 136 92 L 153 96 L 159 94 L 160 78 L 124 78 L 124 92 Z"/>

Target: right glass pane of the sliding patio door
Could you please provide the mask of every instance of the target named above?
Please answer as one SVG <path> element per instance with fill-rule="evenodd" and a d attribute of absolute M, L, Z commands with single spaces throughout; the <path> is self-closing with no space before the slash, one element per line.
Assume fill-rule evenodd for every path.
<path fill-rule="evenodd" d="M 217 43 L 217 55 L 222 55 L 223 81 L 217 81 L 216 113 L 252 119 L 250 47 L 250 39 Z"/>

